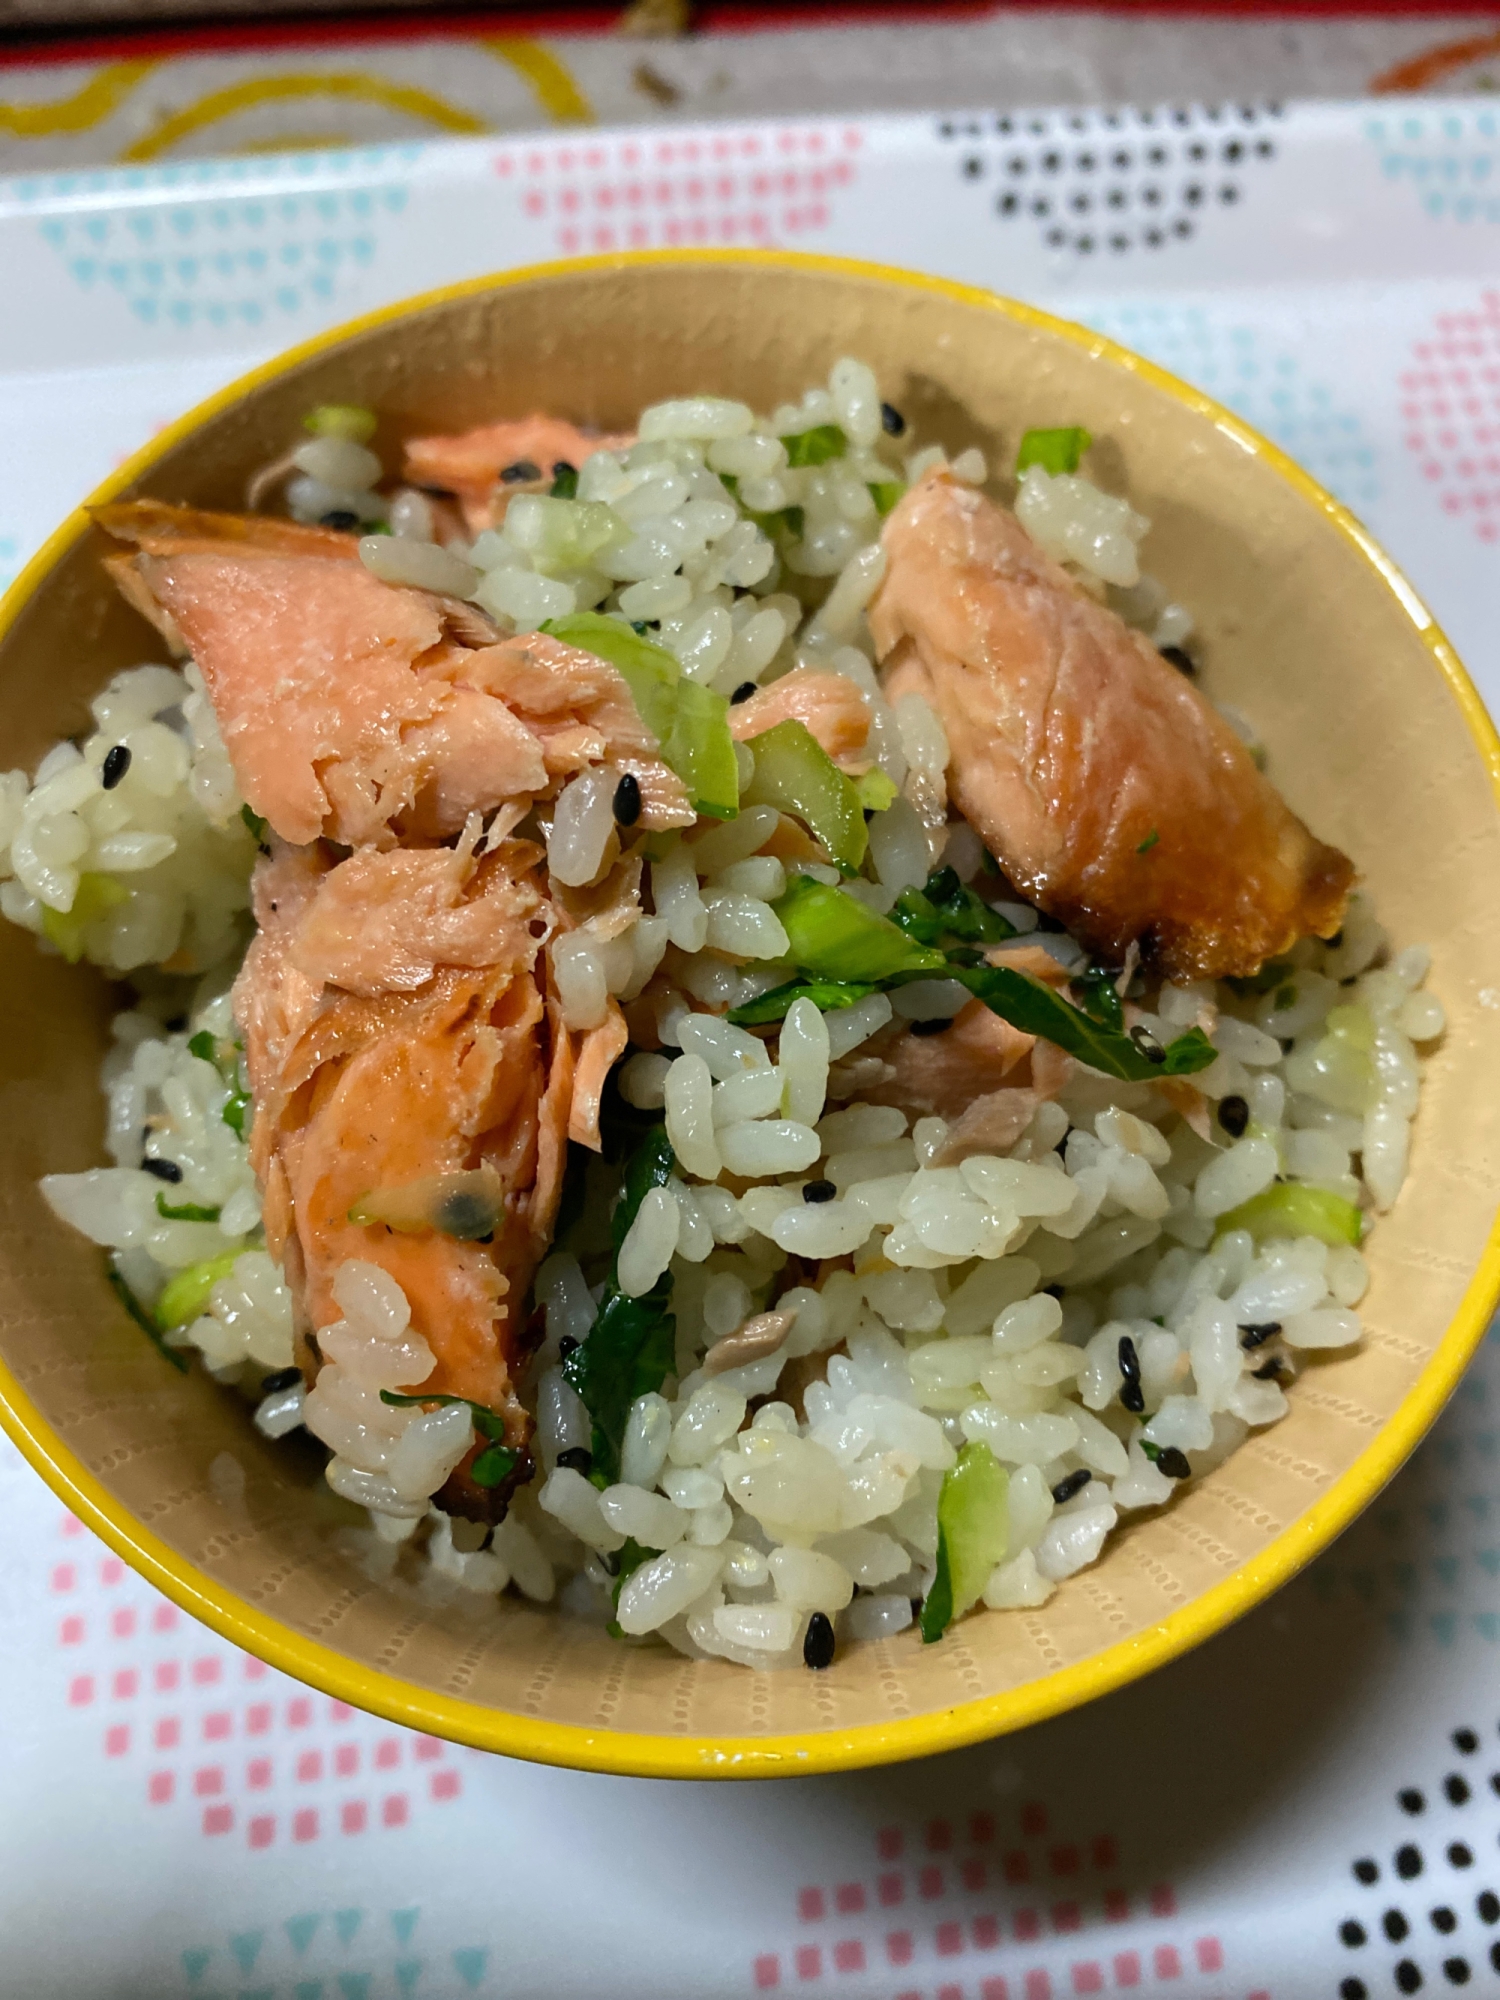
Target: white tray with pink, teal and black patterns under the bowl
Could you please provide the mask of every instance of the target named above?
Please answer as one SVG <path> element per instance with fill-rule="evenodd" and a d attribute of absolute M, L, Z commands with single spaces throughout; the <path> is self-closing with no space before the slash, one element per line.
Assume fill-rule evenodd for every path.
<path fill-rule="evenodd" d="M 1500 696 L 1500 108 L 1020 112 L 0 184 L 0 568 L 252 360 L 500 264 L 782 242 L 1088 320 L 1348 500 Z M 1500 1992 L 1500 1348 L 1272 1604 L 1082 1712 L 790 1786 L 536 1770 L 194 1626 L 0 1448 L 10 2000 Z M 232 1468 L 226 1468 L 232 1476 Z"/>

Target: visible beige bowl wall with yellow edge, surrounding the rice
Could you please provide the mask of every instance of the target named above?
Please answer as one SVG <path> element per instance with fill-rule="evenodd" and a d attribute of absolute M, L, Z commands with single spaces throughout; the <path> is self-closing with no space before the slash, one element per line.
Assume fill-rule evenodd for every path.
<path fill-rule="evenodd" d="M 1254 718 L 1276 780 L 1356 856 L 1392 934 L 1434 948 L 1450 1030 L 1428 1066 L 1412 1178 L 1370 1250 L 1370 1336 L 1298 1382 L 1286 1422 L 1166 1514 L 1136 1518 L 1040 1612 L 980 1616 L 932 1648 L 906 1632 L 824 1674 L 758 1676 L 520 1602 L 438 1602 L 380 1580 L 312 1452 L 266 1444 L 234 1396 L 170 1372 L 34 1188 L 102 1158 L 94 1078 L 112 996 L 0 924 L 14 1432 L 124 1554 L 246 1646 L 522 1756 L 818 1768 L 940 1748 L 1100 1692 L 1244 1610 L 1370 1498 L 1452 1386 L 1492 1296 L 1500 818 L 1482 724 L 1334 514 L 1164 378 L 954 288 L 788 258 L 626 260 L 496 280 L 324 344 L 172 438 L 134 490 L 238 506 L 246 474 L 322 400 L 374 404 L 386 444 L 534 408 L 624 428 L 686 390 L 770 408 L 840 354 L 876 368 L 924 440 L 980 444 L 992 464 L 1028 424 L 1082 422 L 1108 440 L 1114 476 L 1154 520 L 1150 568 L 1198 616 L 1208 690 Z M 4 764 L 32 766 L 86 722 L 108 674 L 154 652 L 106 586 L 94 532 L 74 538 L 0 644 Z"/>

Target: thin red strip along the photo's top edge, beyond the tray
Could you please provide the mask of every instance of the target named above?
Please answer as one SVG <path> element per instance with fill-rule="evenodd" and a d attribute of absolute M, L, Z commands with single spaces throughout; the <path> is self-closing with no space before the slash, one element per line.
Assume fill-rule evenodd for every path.
<path fill-rule="evenodd" d="M 1428 14 L 1452 18 L 1454 0 L 808 0 L 806 6 L 746 4 L 710 0 L 698 12 L 698 36 L 784 34 L 790 28 L 932 26 L 984 20 L 1028 8 L 1078 8 L 1094 14 L 1132 16 L 1322 16 L 1384 14 L 1422 20 Z M 142 56 L 214 56 L 236 50 L 348 48 L 350 44 L 468 42 L 478 36 L 514 34 L 556 40 L 566 36 L 608 36 L 620 18 L 618 6 L 560 6 L 536 10 L 476 10 L 426 14 L 326 14 L 318 20 L 202 22 L 170 28 L 116 30 L 110 34 L 56 30 L 10 32 L 0 48 L 0 68 L 38 68 L 58 62 L 110 62 Z M 634 44 L 642 52 L 650 42 Z"/>

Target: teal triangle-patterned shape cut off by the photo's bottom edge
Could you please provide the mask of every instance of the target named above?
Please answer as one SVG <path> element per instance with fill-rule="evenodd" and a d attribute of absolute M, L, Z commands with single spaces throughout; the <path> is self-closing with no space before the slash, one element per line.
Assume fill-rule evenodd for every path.
<path fill-rule="evenodd" d="M 420 1908 L 300 1910 L 188 1946 L 180 2000 L 460 2000 L 498 1992 L 490 1948 L 418 1938 Z M 428 1932 L 432 1926 L 428 1924 Z"/>

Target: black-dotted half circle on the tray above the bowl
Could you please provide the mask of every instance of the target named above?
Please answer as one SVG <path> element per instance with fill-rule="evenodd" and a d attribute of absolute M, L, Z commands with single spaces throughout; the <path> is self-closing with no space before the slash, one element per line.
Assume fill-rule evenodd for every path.
<path fill-rule="evenodd" d="M 1040 226 L 1080 262 L 1154 256 L 1228 210 L 1276 158 L 1280 104 L 944 118 L 958 178 L 984 188 L 1002 224 Z"/>

